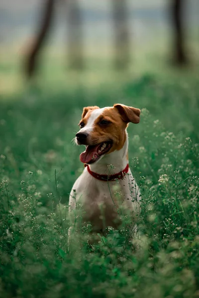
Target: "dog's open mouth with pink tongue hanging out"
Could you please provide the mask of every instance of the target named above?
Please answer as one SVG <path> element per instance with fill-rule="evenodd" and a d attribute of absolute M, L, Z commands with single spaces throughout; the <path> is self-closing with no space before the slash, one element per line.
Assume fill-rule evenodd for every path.
<path fill-rule="evenodd" d="M 80 154 L 80 160 L 84 163 L 94 163 L 101 155 L 107 153 L 112 147 L 112 142 L 103 142 L 94 146 L 87 146 L 86 150 Z"/>

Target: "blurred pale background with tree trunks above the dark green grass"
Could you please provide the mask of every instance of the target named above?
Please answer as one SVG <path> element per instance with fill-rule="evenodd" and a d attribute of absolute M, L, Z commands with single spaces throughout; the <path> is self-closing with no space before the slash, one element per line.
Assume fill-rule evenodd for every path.
<path fill-rule="evenodd" d="M 0 0 L 0 93 L 195 72 L 198 15 L 198 0 Z"/>

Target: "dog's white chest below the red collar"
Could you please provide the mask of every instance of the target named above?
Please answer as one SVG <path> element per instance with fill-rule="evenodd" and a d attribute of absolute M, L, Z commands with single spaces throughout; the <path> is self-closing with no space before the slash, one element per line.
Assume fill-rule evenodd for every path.
<path fill-rule="evenodd" d="M 121 215 L 136 212 L 139 205 L 139 192 L 132 179 L 129 170 L 123 180 L 104 182 L 92 177 L 85 169 L 70 194 L 70 215 L 74 217 L 76 214 L 82 224 L 91 223 L 96 231 L 106 226 L 117 228 Z"/>

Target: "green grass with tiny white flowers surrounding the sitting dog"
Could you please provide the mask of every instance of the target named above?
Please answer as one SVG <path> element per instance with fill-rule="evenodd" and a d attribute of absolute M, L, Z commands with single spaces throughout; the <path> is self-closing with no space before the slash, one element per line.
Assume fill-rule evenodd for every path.
<path fill-rule="evenodd" d="M 197 77 L 42 90 L 0 101 L 0 297 L 198 297 Z M 69 253 L 69 192 L 83 170 L 71 140 L 84 106 L 117 102 L 142 109 L 128 127 L 140 248 L 127 243 L 128 230 L 110 229 L 91 250 L 87 226 Z"/>

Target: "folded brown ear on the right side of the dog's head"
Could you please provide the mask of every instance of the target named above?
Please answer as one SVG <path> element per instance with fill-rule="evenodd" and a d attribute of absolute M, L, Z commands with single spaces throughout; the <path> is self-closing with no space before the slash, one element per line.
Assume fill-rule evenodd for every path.
<path fill-rule="evenodd" d="M 140 122 L 140 109 L 129 107 L 120 103 L 115 103 L 114 107 L 118 110 L 124 122 L 132 122 L 135 124 Z"/>

